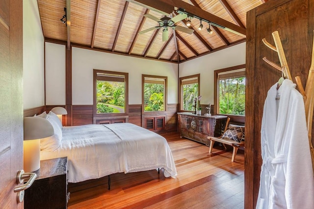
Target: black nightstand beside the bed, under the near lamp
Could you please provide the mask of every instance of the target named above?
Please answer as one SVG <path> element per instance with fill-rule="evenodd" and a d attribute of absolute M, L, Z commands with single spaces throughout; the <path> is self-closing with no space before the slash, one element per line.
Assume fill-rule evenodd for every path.
<path fill-rule="evenodd" d="M 40 161 L 37 178 L 25 190 L 25 209 L 66 209 L 70 193 L 67 181 L 67 157 Z"/>

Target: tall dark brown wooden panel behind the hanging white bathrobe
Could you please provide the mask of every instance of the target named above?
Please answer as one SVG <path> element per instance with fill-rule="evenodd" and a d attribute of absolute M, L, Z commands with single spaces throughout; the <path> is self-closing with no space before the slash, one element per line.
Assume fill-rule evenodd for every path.
<path fill-rule="evenodd" d="M 247 13 L 244 197 L 248 209 L 255 208 L 259 191 L 263 104 L 267 91 L 281 77 L 280 71 L 262 61 L 266 56 L 280 65 L 277 52 L 267 48 L 262 38 L 275 46 L 272 32 L 276 30 L 292 78 L 301 76 L 305 85 L 311 65 L 314 0 L 271 0 Z"/>

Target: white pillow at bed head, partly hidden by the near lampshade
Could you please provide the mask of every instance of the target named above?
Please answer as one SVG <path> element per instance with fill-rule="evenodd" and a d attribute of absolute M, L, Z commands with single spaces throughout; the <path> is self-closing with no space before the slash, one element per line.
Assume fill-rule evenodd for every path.
<path fill-rule="evenodd" d="M 54 135 L 40 139 L 40 149 L 53 152 L 54 150 L 58 149 L 61 144 L 62 130 L 52 116 L 48 115 L 47 120 L 51 123 L 53 127 Z"/>

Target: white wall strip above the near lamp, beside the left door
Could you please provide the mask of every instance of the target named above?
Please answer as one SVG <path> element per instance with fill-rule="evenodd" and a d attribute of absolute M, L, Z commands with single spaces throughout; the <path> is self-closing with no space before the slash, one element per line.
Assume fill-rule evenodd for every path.
<path fill-rule="evenodd" d="M 23 1 L 23 108 L 45 105 L 44 37 L 36 0 Z"/>

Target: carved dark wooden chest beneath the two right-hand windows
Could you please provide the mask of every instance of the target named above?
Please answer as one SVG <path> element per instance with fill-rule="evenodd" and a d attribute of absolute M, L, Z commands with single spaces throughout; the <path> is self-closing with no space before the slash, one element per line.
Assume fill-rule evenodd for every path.
<path fill-rule="evenodd" d="M 225 115 L 196 115 L 191 112 L 178 112 L 180 136 L 209 145 L 207 136 L 220 136 L 225 129 Z"/>

